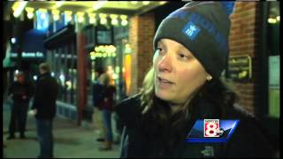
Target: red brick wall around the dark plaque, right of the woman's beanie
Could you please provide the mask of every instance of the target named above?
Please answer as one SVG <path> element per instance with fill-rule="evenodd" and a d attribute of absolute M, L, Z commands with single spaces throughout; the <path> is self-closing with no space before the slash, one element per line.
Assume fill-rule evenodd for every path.
<path fill-rule="evenodd" d="M 247 82 L 235 82 L 234 87 L 239 93 L 240 104 L 252 113 L 260 104 L 259 78 L 260 68 L 260 33 L 261 3 L 237 2 L 231 15 L 230 56 L 249 55 L 252 58 L 252 79 Z"/>

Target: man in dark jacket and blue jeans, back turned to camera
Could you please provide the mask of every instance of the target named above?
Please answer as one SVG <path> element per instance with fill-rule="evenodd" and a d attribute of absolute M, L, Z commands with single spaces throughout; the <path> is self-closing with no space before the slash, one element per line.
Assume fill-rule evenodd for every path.
<path fill-rule="evenodd" d="M 57 80 L 50 76 L 50 65 L 39 65 L 40 78 L 36 83 L 32 110 L 36 118 L 37 135 L 40 142 L 40 158 L 53 157 L 52 122 L 56 115 L 58 94 Z"/>

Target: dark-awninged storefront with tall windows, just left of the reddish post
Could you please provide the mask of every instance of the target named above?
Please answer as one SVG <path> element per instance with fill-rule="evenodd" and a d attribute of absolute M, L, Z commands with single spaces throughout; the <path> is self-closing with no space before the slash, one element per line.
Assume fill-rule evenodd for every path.
<path fill-rule="evenodd" d="M 56 32 L 44 40 L 44 46 L 48 49 L 47 61 L 52 68 L 51 75 L 59 84 L 57 115 L 76 121 L 78 102 L 76 34 L 71 24 L 53 29 Z"/>

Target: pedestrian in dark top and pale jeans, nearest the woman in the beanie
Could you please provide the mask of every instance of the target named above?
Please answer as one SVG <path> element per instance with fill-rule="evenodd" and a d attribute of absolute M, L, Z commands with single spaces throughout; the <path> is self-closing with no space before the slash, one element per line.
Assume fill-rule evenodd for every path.
<path fill-rule="evenodd" d="M 103 146 L 99 148 L 99 150 L 111 150 L 112 145 L 112 124 L 111 124 L 111 113 L 113 110 L 113 102 L 114 102 L 114 94 L 116 89 L 110 83 L 110 77 L 107 72 L 104 72 L 99 77 L 100 82 L 103 85 L 103 90 L 101 92 L 101 102 L 99 102 L 99 108 L 103 113 L 103 127 L 105 132 L 105 141 L 103 142 Z"/>

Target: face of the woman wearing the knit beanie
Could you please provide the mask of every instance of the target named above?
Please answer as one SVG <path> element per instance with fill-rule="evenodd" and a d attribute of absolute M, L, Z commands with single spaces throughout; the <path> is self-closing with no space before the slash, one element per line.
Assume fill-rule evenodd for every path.
<path fill-rule="evenodd" d="M 153 65 L 157 97 L 174 104 L 186 102 L 209 75 L 188 49 L 170 39 L 157 43 Z"/>

